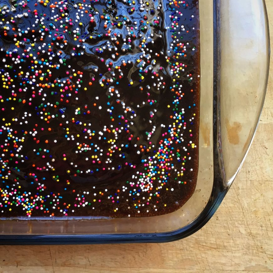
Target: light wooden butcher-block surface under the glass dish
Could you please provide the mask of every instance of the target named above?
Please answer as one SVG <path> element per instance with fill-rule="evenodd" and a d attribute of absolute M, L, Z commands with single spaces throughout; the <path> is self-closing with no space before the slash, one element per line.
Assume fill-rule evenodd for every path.
<path fill-rule="evenodd" d="M 273 36 L 273 1 L 266 3 Z M 0 246 L 0 273 L 273 272 L 272 136 L 271 58 L 255 140 L 223 203 L 201 230 L 166 244 Z"/>

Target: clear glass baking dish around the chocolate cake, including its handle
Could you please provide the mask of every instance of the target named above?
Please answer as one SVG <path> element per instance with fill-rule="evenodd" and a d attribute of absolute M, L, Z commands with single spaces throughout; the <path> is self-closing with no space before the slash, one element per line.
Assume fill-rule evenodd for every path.
<path fill-rule="evenodd" d="M 0 244 L 168 242 L 193 234 L 213 216 L 259 121 L 269 75 L 269 27 L 263 0 L 200 0 L 199 9 L 199 171 L 192 197 L 179 210 L 153 217 L 0 218 Z"/>

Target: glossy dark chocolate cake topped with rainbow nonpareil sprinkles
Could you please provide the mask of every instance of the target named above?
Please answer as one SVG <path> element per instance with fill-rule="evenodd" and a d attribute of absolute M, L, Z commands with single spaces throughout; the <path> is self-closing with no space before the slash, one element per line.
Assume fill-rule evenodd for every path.
<path fill-rule="evenodd" d="M 137 217 L 192 195 L 198 1 L 0 2 L 0 216 Z"/>

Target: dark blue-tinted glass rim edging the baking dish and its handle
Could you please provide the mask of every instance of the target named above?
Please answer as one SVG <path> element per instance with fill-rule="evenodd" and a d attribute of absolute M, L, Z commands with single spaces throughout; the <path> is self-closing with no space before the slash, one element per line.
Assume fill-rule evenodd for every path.
<path fill-rule="evenodd" d="M 268 16 L 265 6 L 265 0 L 262 0 L 265 12 L 265 31 L 269 38 L 269 24 Z M 171 242 L 179 239 L 183 239 L 187 236 L 192 235 L 202 228 L 209 219 L 216 212 L 220 206 L 223 198 L 225 197 L 228 189 L 230 188 L 232 182 L 234 181 L 237 173 L 239 172 L 249 148 L 255 137 L 257 131 L 258 123 L 256 124 L 254 134 L 250 141 L 250 145 L 244 155 L 244 158 L 239 165 L 235 175 L 232 177 L 231 181 L 227 184 L 224 183 L 224 169 L 223 160 L 221 158 L 220 149 L 221 143 L 220 139 L 220 103 L 219 103 L 219 73 L 218 67 L 220 63 L 220 50 L 219 50 L 219 3 L 220 0 L 213 0 L 213 187 L 209 200 L 202 210 L 202 212 L 188 225 L 169 232 L 161 233 L 120 233 L 120 234 L 47 234 L 47 235 L 0 235 L 0 245 L 20 245 L 20 244 L 110 244 L 110 243 L 163 243 Z M 270 57 L 270 39 L 268 39 L 268 48 Z M 269 65 L 267 67 L 267 79 L 269 77 Z M 262 105 L 264 104 L 266 87 L 262 91 Z M 262 112 L 262 107 L 260 109 L 260 114 Z M 258 119 L 259 120 L 259 119 Z"/>

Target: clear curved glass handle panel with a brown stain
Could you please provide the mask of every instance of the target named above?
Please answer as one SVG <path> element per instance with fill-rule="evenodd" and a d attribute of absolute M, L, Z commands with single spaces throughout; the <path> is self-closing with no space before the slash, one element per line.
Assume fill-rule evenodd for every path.
<path fill-rule="evenodd" d="M 217 1 L 218 160 L 225 187 L 253 140 L 269 75 L 269 26 L 264 0 Z"/>

